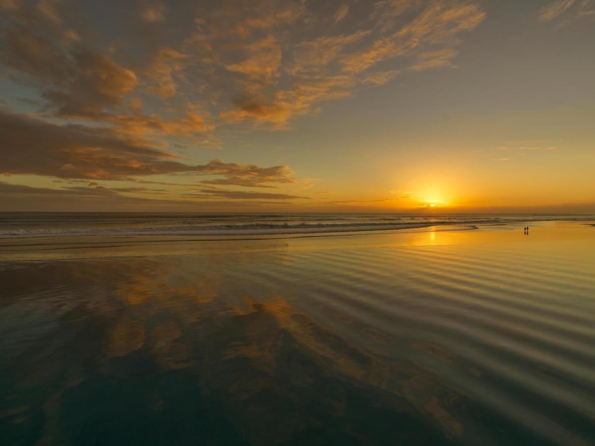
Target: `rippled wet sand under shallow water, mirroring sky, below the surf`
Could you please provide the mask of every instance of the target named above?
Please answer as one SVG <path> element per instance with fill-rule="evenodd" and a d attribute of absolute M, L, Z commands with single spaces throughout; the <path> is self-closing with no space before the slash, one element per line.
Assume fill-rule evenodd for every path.
<path fill-rule="evenodd" d="M 3 444 L 593 444 L 595 227 L 0 250 Z"/>

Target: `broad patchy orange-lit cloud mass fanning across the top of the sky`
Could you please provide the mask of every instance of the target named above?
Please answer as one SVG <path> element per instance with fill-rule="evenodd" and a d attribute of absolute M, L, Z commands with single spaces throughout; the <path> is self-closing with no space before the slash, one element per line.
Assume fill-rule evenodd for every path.
<path fill-rule="evenodd" d="M 485 17 L 467 0 L 346 1 L 330 14 L 302 0 L 202 2 L 194 29 L 159 45 L 158 37 L 135 40 L 133 32 L 130 42 L 111 38 L 121 31 L 117 23 L 87 30 L 60 2 L 3 5 L 3 63 L 15 82 L 34 86 L 40 111 L 137 135 L 206 132 L 206 146 L 216 146 L 213 134 L 229 124 L 285 129 L 322 102 L 389 82 L 407 68 L 454 67 L 459 35 Z M 168 10 L 171 20 L 183 8 L 192 13 L 177 5 Z M 138 14 L 156 23 L 165 11 L 164 2 L 146 0 Z"/>

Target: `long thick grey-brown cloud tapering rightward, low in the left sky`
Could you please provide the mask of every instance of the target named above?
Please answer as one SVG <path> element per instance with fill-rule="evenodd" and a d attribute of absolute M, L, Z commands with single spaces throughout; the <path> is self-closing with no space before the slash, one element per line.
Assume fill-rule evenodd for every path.
<path fill-rule="evenodd" d="M 58 125 L 0 110 L 0 173 L 75 179 L 126 179 L 164 173 L 196 173 L 252 179 L 254 184 L 295 182 L 287 166 L 181 163 L 179 157 L 105 129 Z"/>

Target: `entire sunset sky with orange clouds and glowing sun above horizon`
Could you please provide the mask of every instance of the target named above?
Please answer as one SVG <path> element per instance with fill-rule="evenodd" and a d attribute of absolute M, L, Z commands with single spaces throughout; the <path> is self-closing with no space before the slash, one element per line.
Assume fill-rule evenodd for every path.
<path fill-rule="evenodd" d="M 595 0 L 0 0 L 0 211 L 595 213 Z"/>

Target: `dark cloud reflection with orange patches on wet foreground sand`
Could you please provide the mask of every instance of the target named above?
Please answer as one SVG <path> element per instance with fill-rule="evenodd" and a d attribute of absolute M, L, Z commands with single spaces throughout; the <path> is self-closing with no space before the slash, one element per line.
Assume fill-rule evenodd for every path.
<path fill-rule="evenodd" d="M 218 301 L 215 277 L 176 286 L 168 276 L 175 263 L 153 276 L 141 262 L 61 267 L 62 277 L 70 270 L 83 279 L 79 285 L 99 286 L 106 301 L 62 291 L 57 300 L 31 303 L 53 321 L 38 339 L 12 339 L 26 347 L 3 376 L 3 388 L 11 381 L 4 433 L 15 444 L 32 444 L 33 435 L 41 444 L 152 442 L 157 432 L 179 429 L 180 415 L 194 427 L 167 435 L 208 444 L 444 443 L 463 433 L 449 413 L 461 395 L 413 364 L 346 341 L 279 296 Z M 19 273 L 55 269 L 32 265 Z M 14 305 L 24 295 L 27 289 L 15 292 Z M 39 361 L 42 369 L 33 366 Z"/>

